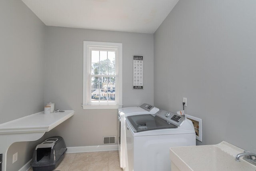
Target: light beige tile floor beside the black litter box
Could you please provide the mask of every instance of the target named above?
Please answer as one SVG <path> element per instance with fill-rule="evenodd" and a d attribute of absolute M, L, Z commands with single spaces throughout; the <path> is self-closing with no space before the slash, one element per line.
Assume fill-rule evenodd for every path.
<path fill-rule="evenodd" d="M 65 154 L 54 171 L 122 171 L 118 151 Z M 30 168 L 28 171 L 33 171 Z"/>

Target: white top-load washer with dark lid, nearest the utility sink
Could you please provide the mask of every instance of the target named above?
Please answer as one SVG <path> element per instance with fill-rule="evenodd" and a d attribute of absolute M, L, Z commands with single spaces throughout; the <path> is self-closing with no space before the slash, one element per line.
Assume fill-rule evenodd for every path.
<path fill-rule="evenodd" d="M 192 121 L 160 110 L 126 117 L 126 170 L 170 171 L 170 147 L 196 145 Z"/>

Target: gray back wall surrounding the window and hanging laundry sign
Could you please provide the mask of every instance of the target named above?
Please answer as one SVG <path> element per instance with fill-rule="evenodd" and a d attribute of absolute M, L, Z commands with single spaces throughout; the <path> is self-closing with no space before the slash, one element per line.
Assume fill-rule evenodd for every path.
<path fill-rule="evenodd" d="M 75 114 L 47 136 L 60 135 L 68 147 L 102 145 L 103 136 L 117 134 L 116 109 L 83 110 L 83 41 L 123 44 L 124 107 L 153 104 L 153 34 L 112 32 L 47 26 L 45 103 Z M 132 55 L 144 56 L 144 90 L 132 89 Z"/>

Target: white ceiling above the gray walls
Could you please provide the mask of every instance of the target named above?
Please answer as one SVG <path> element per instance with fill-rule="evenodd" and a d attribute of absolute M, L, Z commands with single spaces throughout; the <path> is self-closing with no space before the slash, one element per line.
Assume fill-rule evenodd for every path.
<path fill-rule="evenodd" d="M 178 0 L 22 0 L 46 26 L 154 33 Z"/>

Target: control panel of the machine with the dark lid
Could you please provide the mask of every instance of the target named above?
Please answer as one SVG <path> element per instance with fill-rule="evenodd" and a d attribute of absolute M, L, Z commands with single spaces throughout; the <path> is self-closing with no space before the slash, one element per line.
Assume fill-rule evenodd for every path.
<path fill-rule="evenodd" d="M 172 123 L 178 127 L 185 121 L 184 115 L 177 115 L 170 111 L 160 110 L 156 112 L 156 115 L 166 120 L 167 123 Z"/>

